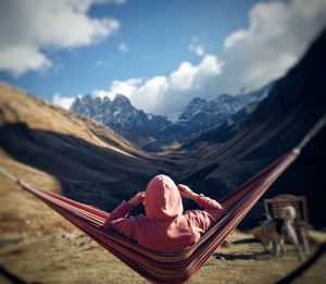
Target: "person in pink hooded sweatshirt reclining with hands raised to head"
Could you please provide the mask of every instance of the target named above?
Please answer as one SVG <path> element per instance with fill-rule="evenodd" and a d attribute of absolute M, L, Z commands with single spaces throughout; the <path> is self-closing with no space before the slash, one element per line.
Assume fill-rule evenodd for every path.
<path fill-rule="evenodd" d="M 181 196 L 203 210 L 184 212 Z M 145 205 L 146 215 L 127 218 L 133 207 Z M 166 175 L 156 175 L 146 192 L 123 201 L 106 218 L 104 227 L 113 229 L 139 245 L 159 252 L 180 251 L 200 239 L 226 210 L 215 200 L 178 186 Z"/>

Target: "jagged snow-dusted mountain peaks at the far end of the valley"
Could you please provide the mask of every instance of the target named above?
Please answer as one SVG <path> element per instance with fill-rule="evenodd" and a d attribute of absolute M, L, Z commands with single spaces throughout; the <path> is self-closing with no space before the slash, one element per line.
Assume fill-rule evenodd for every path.
<path fill-rule="evenodd" d="M 195 137 L 234 115 L 242 108 L 264 99 L 273 84 L 238 96 L 221 95 L 213 100 L 195 98 L 181 113 L 154 115 L 136 109 L 129 99 L 116 95 L 111 100 L 92 95 L 77 97 L 71 111 L 93 119 L 147 150 Z"/>

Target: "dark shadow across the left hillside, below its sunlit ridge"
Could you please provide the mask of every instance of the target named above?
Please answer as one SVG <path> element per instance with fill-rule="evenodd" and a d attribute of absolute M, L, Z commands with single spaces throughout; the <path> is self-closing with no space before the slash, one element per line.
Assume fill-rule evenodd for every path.
<path fill-rule="evenodd" d="M 143 190 L 152 176 L 171 174 L 162 159 L 125 156 L 22 122 L 0 127 L 0 146 L 14 160 L 55 177 L 64 196 L 105 210 Z"/>

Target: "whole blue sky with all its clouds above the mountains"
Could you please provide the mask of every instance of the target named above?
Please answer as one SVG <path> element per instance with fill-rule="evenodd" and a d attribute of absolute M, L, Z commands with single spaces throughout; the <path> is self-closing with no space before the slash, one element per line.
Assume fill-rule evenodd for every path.
<path fill-rule="evenodd" d="M 326 1 L 318 0 L 26 2 L 0 4 L 0 81 L 49 101 L 55 95 L 62 106 L 78 94 L 126 92 L 136 107 L 161 114 L 284 75 L 326 22 Z M 300 14 L 308 8 L 309 21 Z"/>

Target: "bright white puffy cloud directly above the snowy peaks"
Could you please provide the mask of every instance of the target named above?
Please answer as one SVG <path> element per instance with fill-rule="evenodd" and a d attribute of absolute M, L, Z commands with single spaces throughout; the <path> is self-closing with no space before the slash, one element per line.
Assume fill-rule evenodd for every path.
<path fill-rule="evenodd" d="M 113 99 L 116 94 L 123 94 L 139 109 L 170 114 L 180 111 L 195 97 L 209 98 L 211 94 L 205 90 L 212 89 L 211 85 L 221 73 L 221 67 L 222 63 L 216 57 L 205 55 L 198 65 L 180 63 L 168 76 L 155 76 L 148 81 L 114 81 L 108 91 L 96 90 L 93 95 Z"/>

